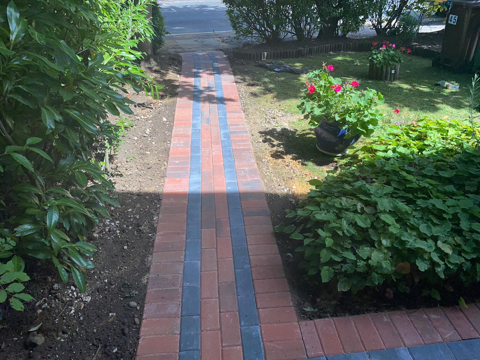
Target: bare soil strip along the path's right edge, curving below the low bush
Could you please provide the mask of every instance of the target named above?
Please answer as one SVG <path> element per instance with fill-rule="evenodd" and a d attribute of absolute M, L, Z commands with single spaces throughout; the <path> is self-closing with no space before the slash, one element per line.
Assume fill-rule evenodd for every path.
<path fill-rule="evenodd" d="M 244 72 L 242 67 L 242 61 L 232 60 L 232 70 L 236 75 L 237 89 L 250 132 L 255 160 L 266 192 L 271 220 L 276 226 L 285 221 L 286 210 L 294 209 L 305 199 L 311 188 L 306 182 L 300 183 L 298 179 L 310 179 L 312 174 L 304 173 L 300 160 L 282 151 L 281 146 L 278 144 L 272 146 L 265 141 L 266 131 L 272 128 L 277 130 L 288 128 L 288 123 L 296 118 L 293 114 L 275 109 L 278 104 L 266 108 L 259 107 L 252 93 L 254 84 L 241 76 Z M 331 169 L 336 166 L 336 160 L 332 159 L 331 164 L 323 167 Z M 479 284 L 472 284 L 466 288 L 461 286 L 460 280 L 452 281 L 451 286 L 442 285 L 443 289 L 439 289 L 441 301 L 430 296 L 422 296 L 422 288 L 415 287 L 414 283 L 410 294 L 399 292 L 391 294 L 390 290 L 387 290 L 388 286 L 365 289 L 355 295 L 338 292 L 335 284 L 333 287 L 326 286 L 320 282 L 319 277 L 307 276 L 306 272 L 300 269 L 299 265 L 303 258 L 300 252 L 295 252 L 295 249 L 303 244 L 302 241 L 289 239 L 282 233 L 277 233 L 276 239 L 299 319 L 458 305 L 460 297 L 467 303 L 478 302 L 480 299 Z"/>

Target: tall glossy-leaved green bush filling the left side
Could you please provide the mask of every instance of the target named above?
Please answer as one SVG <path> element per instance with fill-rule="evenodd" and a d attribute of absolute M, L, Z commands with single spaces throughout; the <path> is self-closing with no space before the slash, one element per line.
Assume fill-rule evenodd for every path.
<path fill-rule="evenodd" d="M 31 298 L 11 284 L 28 280 L 26 256 L 85 292 L 88 234 L 118 205 L 99 166 L 118 142 L 107 110 L 132 114 L 121 92 L 145 76 L 99 2 L 12 0 L 0 12 L 0 302 L 22 310 L 16 300 Z"/>

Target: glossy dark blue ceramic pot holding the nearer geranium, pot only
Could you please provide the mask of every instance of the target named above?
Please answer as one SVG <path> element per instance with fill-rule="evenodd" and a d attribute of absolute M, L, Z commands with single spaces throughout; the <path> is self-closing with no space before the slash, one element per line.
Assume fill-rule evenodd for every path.
<path fill-rule="evenodd" d="M 360 139 L 360 134 L 345 139 L 348 130 L 338 126 L 337 122 L 322 120 L 315 129 L 317 149 L 331 156 L 343 156 L 348 153 L 348 146 L 355 144 Z"/>

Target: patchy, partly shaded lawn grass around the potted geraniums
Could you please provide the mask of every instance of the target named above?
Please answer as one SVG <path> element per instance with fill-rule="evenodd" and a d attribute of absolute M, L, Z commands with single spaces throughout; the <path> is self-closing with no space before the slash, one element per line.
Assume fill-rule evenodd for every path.
<path fill-rule="evenodd" d="M 379 108 L 384 113 L 384 123 L 403 124 L 425 116 L 438 119 L 467 117 L 466 99 L 471 75 L 434 69 L 429 59 L 405 56 L 400 66 L 399 81 L 392 83 L 367 78 L 368 53 L 331 53 L 283 61 L 311 71 L 321 68 L 324 62 L 332 64 L 335 67 L 334 76 L 340 77 L 344 82 L 354 79 L 360 83 L 360 89 L 370 87 L 381 92 L 385 103 Z M 287 129 L 271 129 L 264 136 L 281 147 L 283 152 L 299 160 L 305 174 L 323 177 L 324 166 L 332 162 L 332 157 L 320 154 L 315 149 L 313 131 L 297 109 L 301 89 L 307 80 L 306 75 L 276 73 L 254 65 L 251 63 L 235 67 L 236 77 L 250 86 L 250 107 L 282 110 L 291 113 L 294 119 Z M 441 80 L 455 82 L 460 85 L 460 89 L 447 90 L 434 85 Z M 394 113 L 396 108 L 400 110 L 399 114 Z M 362 143 L 360 140 L 357 146 Z"/>

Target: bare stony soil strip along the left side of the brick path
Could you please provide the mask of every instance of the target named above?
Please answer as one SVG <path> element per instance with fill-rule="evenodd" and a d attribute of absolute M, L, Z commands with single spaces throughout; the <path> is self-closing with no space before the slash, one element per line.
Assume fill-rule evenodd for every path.
<path fill-rule="evenodd" d="M 28 304 L 24 312 L 0 309 L 0 359 L 135 358 L 180 67 L 178 56 L 159 54 L 144 68 L 166 85 L 161 98 L 127 95 L 136 103 L 131 116 L 135 123 L 118 153 L 110 158 L 116 182 L 112 195 L 120 208 L 111 209 L 111 218 L 90 235 L 98 252 L 96 268 L 86 276 L 87 293 L 80 294 L 73 283 L 63 284 L 54 272 L 37 266 L 40 264 L 30 264 L 32 280 L 27 291 L 37 302 Z M 37 273 L 32 276 L 34 271 Z M 129 306 L 131 301 L 137 304 Z M 29 329 L 38 324 L 36 333 L 44 337 L 41 345 L 27 341 L 32 334 Z"/>

